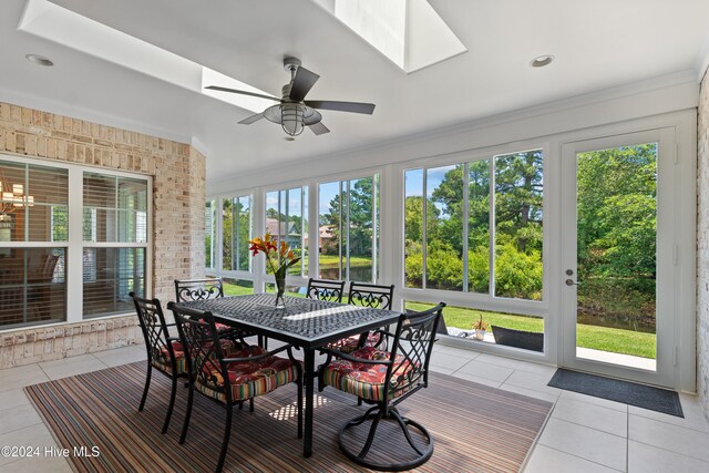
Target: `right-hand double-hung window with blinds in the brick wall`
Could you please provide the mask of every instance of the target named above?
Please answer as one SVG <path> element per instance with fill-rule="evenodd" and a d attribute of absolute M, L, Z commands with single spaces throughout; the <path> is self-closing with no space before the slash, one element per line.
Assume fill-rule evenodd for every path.
<path fill-rule="evenodd" d="M 145 294 L 147 181 L 83 173 L 83 315 L 130 311 Z"/>

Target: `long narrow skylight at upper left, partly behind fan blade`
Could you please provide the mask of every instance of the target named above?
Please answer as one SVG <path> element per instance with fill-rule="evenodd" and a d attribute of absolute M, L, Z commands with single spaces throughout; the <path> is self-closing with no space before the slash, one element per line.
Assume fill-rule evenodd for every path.
<path fill-rule="evenodd" d="M 274 104 L 265 99 L 205 90 L 205 85 L 222 85 L 268 95 L 47 0 L 29 0 L 18 29 L 255 113 Z"/>

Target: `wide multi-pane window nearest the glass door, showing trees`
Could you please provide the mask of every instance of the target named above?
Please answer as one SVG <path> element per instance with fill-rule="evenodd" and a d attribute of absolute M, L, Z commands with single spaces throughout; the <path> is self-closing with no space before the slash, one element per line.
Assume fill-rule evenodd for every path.
<path fill-rule="evenodd" d="M 541 300 L 542 158 L 533 150 L 407 171 L 405 287 Z"/>

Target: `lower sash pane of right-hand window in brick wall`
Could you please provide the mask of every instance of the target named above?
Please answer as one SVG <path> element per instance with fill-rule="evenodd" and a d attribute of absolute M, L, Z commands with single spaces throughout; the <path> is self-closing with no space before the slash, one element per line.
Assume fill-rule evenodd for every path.
<path fill-rule="evenodd" d="M 84 248 L 84 317 L 132 310 L 131 291 L 145 294 L 144 248 Z"/>

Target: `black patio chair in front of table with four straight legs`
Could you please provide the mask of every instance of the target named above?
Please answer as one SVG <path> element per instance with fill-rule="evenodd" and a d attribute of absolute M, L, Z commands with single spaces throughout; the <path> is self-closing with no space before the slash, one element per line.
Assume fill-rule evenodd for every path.
<path fill-rule="evenodd" d="M 287 345 L 271 351 L 248 345 L 225 349 L 226 347 L 219 343 L 219 333 L 212 312 L 183 308 L 174 302 L 169 302 L 167 308 L 175 316 L 177 331 L 185 347 L 185 364 L 189 379 L 181 444 L 187 436 L 195 391 L 226 408 L 226 425 L 216 467 L 216 471 L 220 472 L 229 445 L 234 405 L 248 399 L 253 410 L 255 397 L 291 382 L 298 385 L 298 438 L 302 438 L 302 367 L 292 357 L 291 346 Z M 287 351 L 288 358 L 275 356 L 281 351 Z"/>

